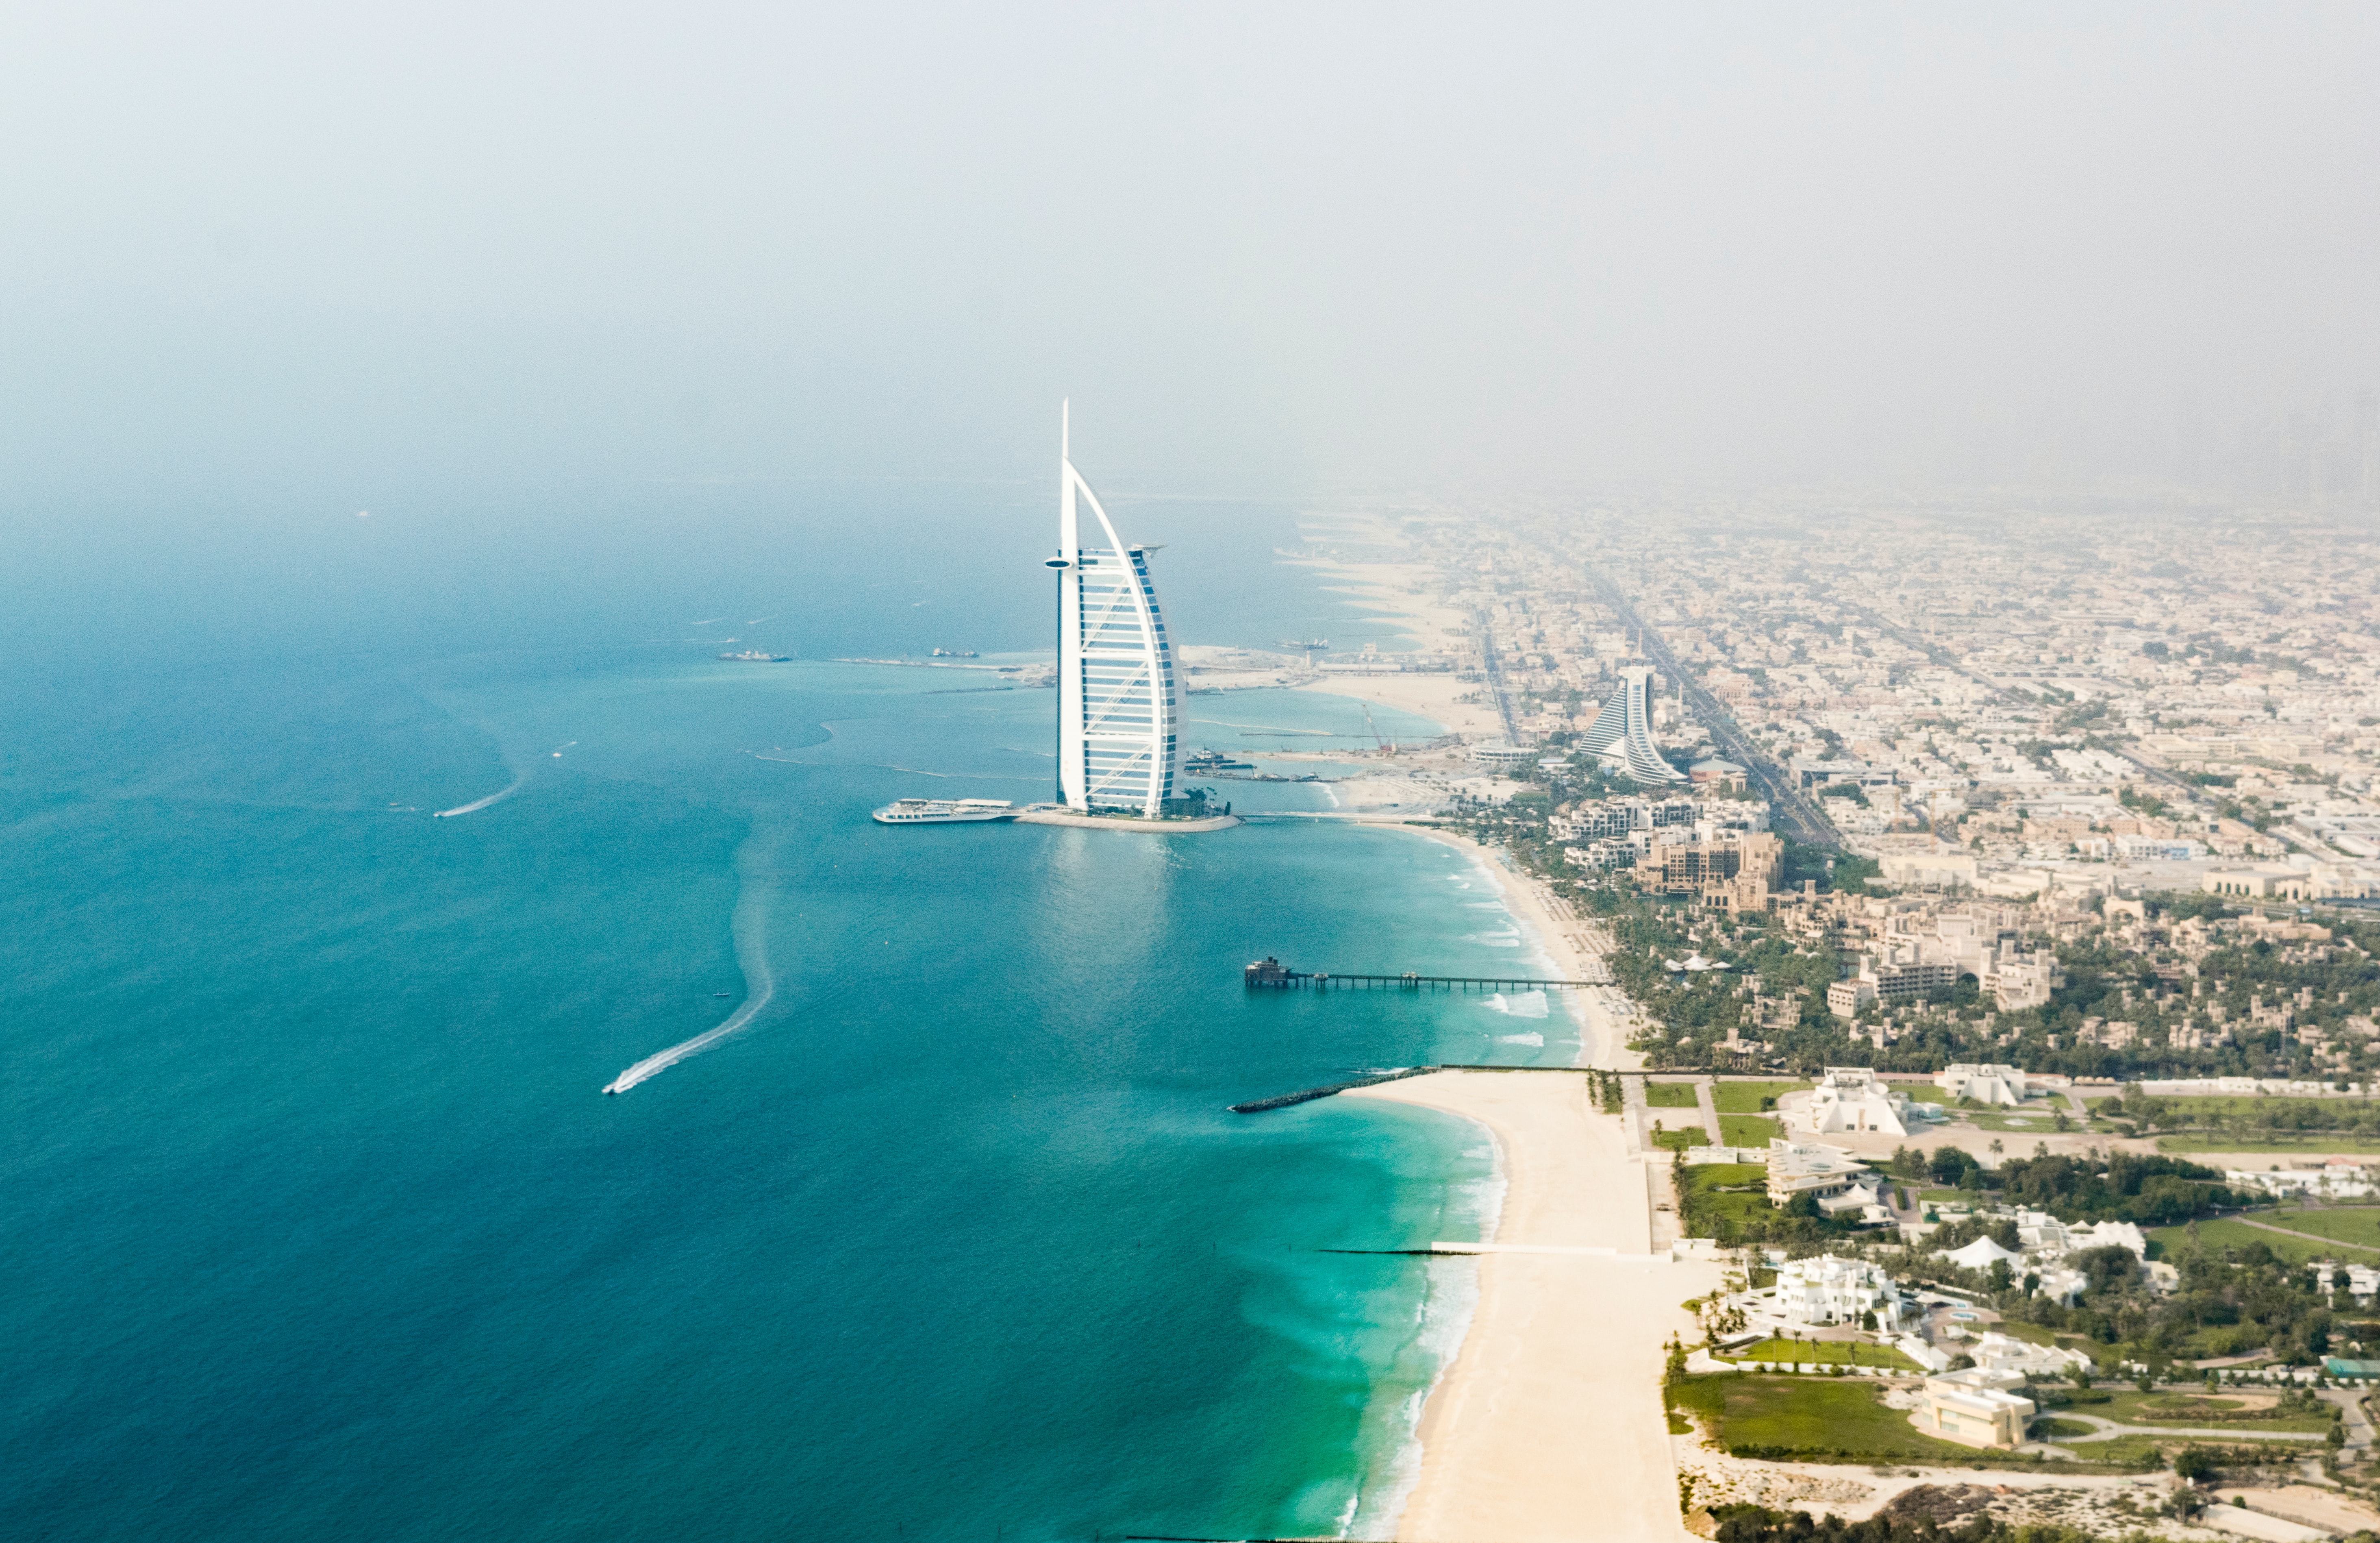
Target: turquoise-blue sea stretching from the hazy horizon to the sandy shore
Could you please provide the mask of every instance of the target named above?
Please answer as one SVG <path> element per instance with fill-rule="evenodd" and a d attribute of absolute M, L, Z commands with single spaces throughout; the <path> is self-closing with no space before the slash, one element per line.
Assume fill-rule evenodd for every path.
<path fill-rule="evenodd" d="M 981 669 L 1047 657 L 1033 483 L 355 502 L 0 562 L 0 1533 L 1388 1536 L 1473 1267 L 1333 1250 L 1483 1236 L 1495 1152 L 1226 1105 L 1578 1031 L 1240 969 L 1542 967 L 1480 860 L 871 824 L 1052 793 L 1052 693 Z M 1290 502 L 1111 505 L 1176 636 L 1399 645 Z M 978 669 L 838 662 L 931 648 Z M 1290 774 L 1435 731 L 1190 717 Z"/>

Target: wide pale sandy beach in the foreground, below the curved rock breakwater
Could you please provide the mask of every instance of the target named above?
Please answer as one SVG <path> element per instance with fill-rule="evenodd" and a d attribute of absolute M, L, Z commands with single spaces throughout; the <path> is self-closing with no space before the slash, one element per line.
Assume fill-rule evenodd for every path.
<path fill-rule="evenodd" d="M 1480 1257 L 1471 1331 L 1423 1407 L 1407 1543 L 1690 1536 L 1661 1341 L 1692 1331 L 1680 1303 L 1718 1286 L 1718 1267 L 1647 1255 L 1645 1172 L 1587 1091 L 1576 1072 L 1433 1072 L 1342 1095 L 1488 1126 L 1507 1181 L 1499 1245 L 1618 1255 Z"/>

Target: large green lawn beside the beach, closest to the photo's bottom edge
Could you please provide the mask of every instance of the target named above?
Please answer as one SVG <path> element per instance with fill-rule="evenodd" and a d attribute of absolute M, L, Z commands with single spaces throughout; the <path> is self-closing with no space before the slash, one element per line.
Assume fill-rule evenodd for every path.
<path fill-rule="evenodd" d="M 1745 1455 L 1795 1455 L 1814 1462 L 1940 1462 L 1942 1467 L 2011 1467 L 2033 1472 L 2121 1472 L 2147 1464 L 2144 1438 L 2075 1448 L 2075 1462 L 2035 1462 L 1923 1436 L 1909 1414 L 1887 1410 L 1875 1383 L 1852 1376 L 1766 1376 L 1721 1372 L 1687 1376 L 1671 1403 L 1702 1417 L 1723 1448 Z"/>

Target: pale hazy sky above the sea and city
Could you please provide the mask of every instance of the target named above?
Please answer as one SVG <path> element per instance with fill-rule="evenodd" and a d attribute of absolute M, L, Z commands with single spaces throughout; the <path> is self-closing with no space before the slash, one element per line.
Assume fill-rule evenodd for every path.
<path fill-rule="evenodd" d="M 17 7 L 0 491 L 2344 424 L 2375 79 L 2373 5 Z"/>

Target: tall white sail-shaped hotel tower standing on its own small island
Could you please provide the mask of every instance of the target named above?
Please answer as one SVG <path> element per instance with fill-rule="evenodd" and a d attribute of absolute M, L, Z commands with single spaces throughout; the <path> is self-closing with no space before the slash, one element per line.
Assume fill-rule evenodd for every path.
<path fill-rule="evenodd" d="M 1071 810 L 1178 812 L 1183 681 L 1150 579 L 1152 545 L 1126 545 L 1057 431 L 1057 795 Z M 1083 545 L 1083 510 L 1097 521 Z M 1104 543 L 1104 545 L 1100 545 Z"/>

